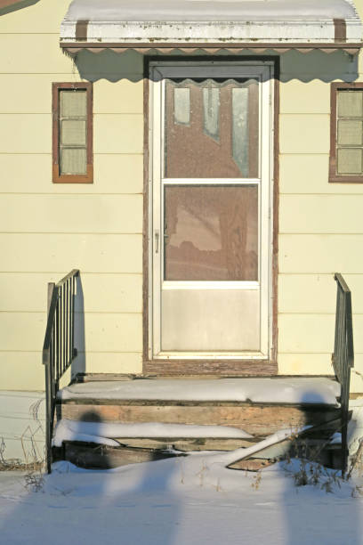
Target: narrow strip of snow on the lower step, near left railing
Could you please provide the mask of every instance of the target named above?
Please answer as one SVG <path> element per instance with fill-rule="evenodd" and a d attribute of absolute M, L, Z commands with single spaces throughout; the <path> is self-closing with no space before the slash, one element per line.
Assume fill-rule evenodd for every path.
<path fill-rule="evenodd" d="M 237 427 L 229 426 L 192 426 L 186 424 L 160 424 L 158 422 L 122 424 L 61 419 L 55 427 L 53 445 L 60 446 L 63 441 L 83 441 L 119 446 L 119 443 L 113 437 L 120 439 L 123 437 L 247 439 L 252 435 Z"/>

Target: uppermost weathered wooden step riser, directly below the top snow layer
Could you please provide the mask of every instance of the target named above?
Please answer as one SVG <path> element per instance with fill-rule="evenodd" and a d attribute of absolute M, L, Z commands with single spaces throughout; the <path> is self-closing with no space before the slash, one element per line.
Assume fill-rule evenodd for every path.
<path fill-rule="evenodd" d="M 281 405 L 178 406 L 62 403 L 57 419 L 92 422 L 161 422 L 169 424 L 231 426 L 251 435 L 270 435 L 282 428 L 296 429 L 339 418 L 339 409 Z M 336 425 L 332 427 L 335 429 Z"/>

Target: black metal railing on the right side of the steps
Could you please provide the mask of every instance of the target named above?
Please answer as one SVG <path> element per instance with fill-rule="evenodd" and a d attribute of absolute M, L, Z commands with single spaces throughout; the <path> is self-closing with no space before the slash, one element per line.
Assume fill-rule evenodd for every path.
<path fill-rule="evenodd" d="M 332 355 L 335 376 L 341 385 L 340 403 L 342 408 L 342 472 L 345 473 L 348 462 L 348 421 L 349 391 L 351 385 L 351 368 L 354 366 L 353 328 L 351 319 L 351 290 L 342 274 L 335 273 L 336 281 L 336 314 L 335 344 Z"/>

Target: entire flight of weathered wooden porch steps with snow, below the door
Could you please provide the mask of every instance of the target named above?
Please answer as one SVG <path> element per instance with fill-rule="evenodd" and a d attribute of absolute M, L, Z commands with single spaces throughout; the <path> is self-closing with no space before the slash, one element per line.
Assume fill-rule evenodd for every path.
<path fill-rule="evenodd" d="M 330 378 L 124 376 L 102 381 L 98 376 L 60 391 L 57 419 L 68 419 L 76 426 L 78 422 L 85 437 L 79 442 L 75 435 L 65 435 L 55 453 L 83 467 L 112 468 L 187 451 L 232 451 L 282 428 L 310 425 L 313 431 L 302 442 L 279 443 L 254 459 L 238 462 L 235 468 L 255 469 L 286 454 L 306 451 L 318 452 L 319 461 L 337 467 L 340 445 L 328 443 L 341 427 L 339 394 L 339 384 Z M 87 435 L 93 427 L 85 423 L 91 422 L 102 431 L 98 435 L 108 437 L 106 444 Z M 117 435 L 115 425 L 119 424 L 123 432 Z M 112 426 L 112 433 L 105 431 Z M 127 426 L 138 432 L 130 433 Z M 154 429 L 150 434 L 148 430 L 155 427 L 158 432 Z M 193 427 L 200 429 L 195 432 Z"/>

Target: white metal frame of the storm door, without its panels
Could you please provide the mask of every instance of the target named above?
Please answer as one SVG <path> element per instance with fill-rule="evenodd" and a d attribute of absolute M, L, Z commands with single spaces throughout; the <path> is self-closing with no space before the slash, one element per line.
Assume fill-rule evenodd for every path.
<path fill-rule="evenodd" d="M 149 62 L 149 312 L 148 312 L 148 359 L 149 360 L 269 360 L 272 347 L 272 261 L 273 261 L 273 98 L 274 66 L 272 61 L 150 61 Z M 164 80 L 167 77 L 253 77 L 260 88 L 260 337 L 258 352 L 162 352 L 161 339 L 161 273 L 157 264 L 156 244 L 163 244 L 163 233 L 156 240 L 155 233 L 161 217 L 161 179 L 164 154 Z M 225 179 L 226 180 L 230 179 Z M 178 179 L 177 183 L 217 183 L 217 179 Z M 233 183 L 233 182 L 231 182 Z M 246 178 L 246 183 L 248 179 Z M 159 204 L 157 204 L 159 203 Z M 157 220 L 159 222 L 159 220 Z M 204 282 L 206 284 L 206 282 Z M 213 289 L 215 282 L 208 282 Z M 223 289 L 221 281 L 218 288 Z M 230 283 L 230 282 L 229 282 Z M 231 284 L 231 283 L 230 283 Z M 247 288 L 247 282 L 246 282 Z M 207 289 L 207 286 L 205 287 Z"/>

